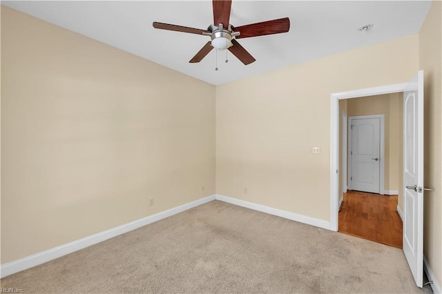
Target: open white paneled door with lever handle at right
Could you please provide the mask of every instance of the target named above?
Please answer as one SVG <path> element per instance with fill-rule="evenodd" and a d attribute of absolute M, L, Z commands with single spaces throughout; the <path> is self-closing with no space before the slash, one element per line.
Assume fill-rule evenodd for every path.
<path fill-rule="evenodd" d="M 423 71 L 403 92 L 403 251 L 416 285 L 423 280 Z"/>

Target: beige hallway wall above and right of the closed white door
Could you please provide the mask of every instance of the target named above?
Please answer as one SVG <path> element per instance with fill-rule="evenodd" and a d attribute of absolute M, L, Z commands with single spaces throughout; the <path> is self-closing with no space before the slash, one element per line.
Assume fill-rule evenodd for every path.
<path fill-rule="evenodd" d="M 398 190 L 399 185 L 399 94 L 375 95 L 348 100 L 348 116 L 385 115 L 384 190 Z M 402 119 L 402 114 L 400 118 Z M 402 146 L 402 144 L 401 144 Z"/>

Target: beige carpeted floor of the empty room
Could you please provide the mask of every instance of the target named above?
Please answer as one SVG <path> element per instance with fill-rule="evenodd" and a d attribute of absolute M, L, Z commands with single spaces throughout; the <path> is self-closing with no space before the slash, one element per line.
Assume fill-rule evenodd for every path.
<path fill-rule="evenodd" d="M 213 201 L 1 280 L 25 293 L 430 293 L 403 252 Z"/>

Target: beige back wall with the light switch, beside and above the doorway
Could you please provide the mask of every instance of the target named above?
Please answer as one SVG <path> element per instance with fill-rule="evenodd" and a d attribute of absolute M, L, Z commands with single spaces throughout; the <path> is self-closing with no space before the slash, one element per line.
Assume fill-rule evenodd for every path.
<path fill-rule="evenodd" d="M 217 193 L 328 221 L 330 93 L 408 81 L 418 47 L 413 35 L 218 86 Z"/>

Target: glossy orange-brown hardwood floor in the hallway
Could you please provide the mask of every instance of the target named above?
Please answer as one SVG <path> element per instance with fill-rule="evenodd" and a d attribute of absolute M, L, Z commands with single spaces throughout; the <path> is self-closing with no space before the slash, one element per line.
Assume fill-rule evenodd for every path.
<path fill-rule="evenodd" d="M 347 191 L 339 210 L 340 233 L 402 248 L 398 195 Z"/>

